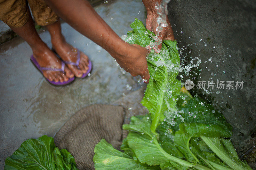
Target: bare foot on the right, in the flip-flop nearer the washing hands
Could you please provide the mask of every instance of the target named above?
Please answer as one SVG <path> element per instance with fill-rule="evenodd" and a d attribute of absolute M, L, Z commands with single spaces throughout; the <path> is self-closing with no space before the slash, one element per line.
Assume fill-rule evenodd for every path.
<path fill-rule="evenodd" d="M 66 41 L 62 41 L 58 44 L 52 43 L 52 47 L 57 52 L 57 54 L 60 55 L 63 61 L 76 63 L 78 51 L 76 48 L 69 45 Z M 71 64 L 66 65 L 75 74 L 76 77 L 80 78 L 88 70 L 89 58 L 83 52 L 80 52 L 80 62 L 78 64 L 79 68 Z"/>

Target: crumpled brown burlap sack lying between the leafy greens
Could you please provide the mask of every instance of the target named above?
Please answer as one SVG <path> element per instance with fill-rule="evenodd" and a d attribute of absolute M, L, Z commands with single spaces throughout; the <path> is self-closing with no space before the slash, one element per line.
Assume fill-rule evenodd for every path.
<path fill-rule="evenodd" d="M 73 115 L 54 137 L 56 146 L 67 149 L 78 169 L 94 169 L 94 147 L 106 139 L 116 149 L 122 143 L 124 108 L 121 106 L 95 104 Z"/>

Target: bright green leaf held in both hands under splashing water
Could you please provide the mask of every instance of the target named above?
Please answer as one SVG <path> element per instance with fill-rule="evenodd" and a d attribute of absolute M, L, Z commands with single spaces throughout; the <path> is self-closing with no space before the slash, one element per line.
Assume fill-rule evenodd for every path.
<path fill-rule="evenodd" d="M 130 44 L 139 44 L 146 47 L 153 42 L 147 30 L 139 19 L 131 24 L 132 32 L 124 38 Z M 146 34 L 145 34 L 146 33 Z M 141 103 L 152 117 L 151 131 L 155 133 L 159 121 L 164 120 L 164 113 L 174 109 L 181 83 L 176 79 L 179 73 L 180 57 L 177 42 L 165 40 L 159 54 L 152 50 L 147 58 L 150 80 Z"/>

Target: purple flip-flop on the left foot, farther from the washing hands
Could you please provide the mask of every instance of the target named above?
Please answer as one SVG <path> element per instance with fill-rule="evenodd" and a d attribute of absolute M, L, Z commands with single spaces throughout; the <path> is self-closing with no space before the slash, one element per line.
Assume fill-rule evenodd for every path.
<path fill-rule="evenodd" d="M 64 73 L 64 68 L 65 68 L 65 63 L 63 61 L 61 61 L 61 69 L 53 69 L 53 68 L 47 68 L 47 67 L 41 67 L 34 55 L 30 56 L 30 60 L 32 61 L 32 63 L 36 66 L 36 68 L 43 74 L 43 70 L 49 70 L 49 71 L 61 71 Z M 57 86 L 62 86 L 62 85 L 67 85 L 69 83 L 71 83 L 72 81 L 75 80 L 75 77 L 73 78 L 69 78 L 68 81 L 63 81 L 63 82 L 55 82 L 55 81 L 50 81 L 48 78 L 45 78 L 49 83 L 51 83 L 52 85 L 57 85 Z"/>

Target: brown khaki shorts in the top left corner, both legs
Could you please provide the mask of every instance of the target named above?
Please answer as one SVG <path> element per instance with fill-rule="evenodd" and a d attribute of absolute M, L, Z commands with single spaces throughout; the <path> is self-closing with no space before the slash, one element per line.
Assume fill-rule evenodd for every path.
<path fill-rule="evenodd" d="M 57 21 L 58 16 L 44 0 L 0 0 L 0 19 L 11 27 L 23 26 L 30 15 L 28 4 L 37 25 L 46 26 Z"/>

